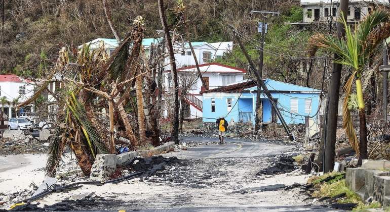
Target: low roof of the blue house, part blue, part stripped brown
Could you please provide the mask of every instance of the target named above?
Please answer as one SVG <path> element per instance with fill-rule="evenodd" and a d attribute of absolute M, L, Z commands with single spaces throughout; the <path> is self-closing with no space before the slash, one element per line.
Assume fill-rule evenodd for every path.
<path fill-rule="evenodd" d="M 303 87 L 299 85 L 294 85 L 290 83 L 280 82 L 276 80 L 271 80 L 269 78 L 264 80 L 265 85 L 269 91 L 278 91 L 278 92 L 305 92 L 305 93 L 320 93 L 321 90 Z M 214 88 L 204 91 L 204 93 L 219 93 L 219 92 L 242 92 L 242 91 L 255 91 L 257 90 L 257 85 L 255 80 L 248 80 L 245 82 L 239 82 L 232 85 L 227 85 L 224 87 Z M 263 90 L 263 89 L 261 89 Z"/>

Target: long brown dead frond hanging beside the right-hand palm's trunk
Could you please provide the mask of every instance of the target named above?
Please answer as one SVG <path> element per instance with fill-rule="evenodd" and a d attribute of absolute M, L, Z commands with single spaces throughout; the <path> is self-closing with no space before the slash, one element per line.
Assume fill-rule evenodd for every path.
<path fill-rule="evenodd" d="M 348 108 L 348 98 L 350 96 L 352 85 L 354 83 L 356 71 L 348 78 L 348 81 L 344 85 L 344 104 L 342 105 L 342 114 L 343 114 L 343 128 L 345 129 L 345 134 L 348 137 L 349 144 L 351 147 L 359 154 L 359 141 L 356 136 L 356 132 L 353 125 L 352 116 L 350 115 L 350 110 Z"/>

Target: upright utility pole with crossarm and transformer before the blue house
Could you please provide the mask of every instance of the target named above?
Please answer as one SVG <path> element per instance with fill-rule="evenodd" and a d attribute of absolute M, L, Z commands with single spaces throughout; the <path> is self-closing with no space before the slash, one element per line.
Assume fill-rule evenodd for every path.
<path fill-rule="evenodd" d="M 260 49 L 259 49 L 259 77 L 262 80 L 263 79 L 263 57 L 264 57 L 264 36 L 265 36 L 265 30 L 266 30 L 266 19 L 267 15 L 271 14 L 279 15 L 277 12 L 268 12 L 268 11 L 251 11 L 251 15 L 254 13 L 260 13 L 263 16 L 263 22 L 261 23 L 261 39 L 260 39 Z M 261 109 L 261 87 L 257 87 L 256 92 L 256 117 L 255 117 L 255 134 L 260 130 L 260 122 L 262 121 L 262 117 L 258 116 L 258 112 Z"/>

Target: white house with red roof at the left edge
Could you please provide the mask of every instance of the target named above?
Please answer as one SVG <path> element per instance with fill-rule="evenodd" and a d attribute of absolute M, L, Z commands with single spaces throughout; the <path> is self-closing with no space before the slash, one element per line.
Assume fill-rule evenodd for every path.
<path fill-rule="evenodd" d="M 27 100 L 34 94 L 34 83 L 28 79 L 18 77 L 14 74 L 0 75 L 0 96 L 6 97 L 8 103 L 2 105 L 7 118 L 17 117 L 14 104 L 17 99 L 18 103 Z M 0 105 L 1 106 L 1 105 Z M 34 104 L 31 103 L 19 110 L 20 112 L 34 112 Z"/>

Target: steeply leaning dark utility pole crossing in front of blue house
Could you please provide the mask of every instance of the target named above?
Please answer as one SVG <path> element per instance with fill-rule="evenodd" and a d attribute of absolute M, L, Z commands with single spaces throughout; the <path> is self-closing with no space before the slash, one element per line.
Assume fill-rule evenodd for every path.
<path fill-rule="evenodd" d="M 281 123 L 283 125 L 283 128 L 285 129 L 288 137 L 292 141 L 295 140 L 294 134 L 292 134 L 292 132 L 290 131 L 290 129 L 289 129 L 288 125 L 286 124 L 282 114 L 279 111 L 278 105 L 275 104 L 274 98 L 272 97 L 271 93 L 269 92 L 269 90 L 268 90 L 267 86 L 265 85 L 264 81 L 260 78 L 259 72 L 256 69 L 256 66 L 253 64 L 252 59 L 249 57 L 247 50 L 245 49 L 243 43 L 241 42 L 241 39 L 237 36 L 235 30 L 233 29 L 233 26 L 229 25 L 229 27 L 230 27 L 231 31 L 233 32 L 233 36 L 235 36 L 238 44 L 240 45 L 241 50 L 243 51 L 243 54 L 244 54 L 245 58 L 247 59 L 249 65 L 252 68 L 253 73 L 255 74 L 255 76 L 257 78 L 257 82 L 256 82 L 256 85 L 258 87 L 257 89 L 259 89 L 259 87 L 261 87 L 263 89 L 263 92 L 265 93 L 265 95 L 267 95 L 268 99 L 271 101 L 271 105 L 272 105 L 272 107 L 274 107 L 274 109 L 276 111 L 276 115 L 280 119 L 280 121 L 281 121 Z"/>

